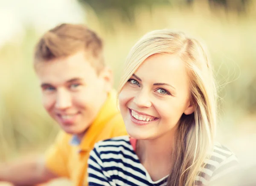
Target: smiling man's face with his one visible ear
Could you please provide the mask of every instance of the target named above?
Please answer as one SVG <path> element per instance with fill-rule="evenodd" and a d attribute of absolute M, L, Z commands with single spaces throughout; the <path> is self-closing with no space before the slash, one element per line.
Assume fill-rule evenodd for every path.
<path fill-rule="evenodd" d="M 97 74 L 84 55 L 78 52 L 35 67 L 44 108 L 70 134 L 84 134 L 112 88 L 110 70 Z"/>

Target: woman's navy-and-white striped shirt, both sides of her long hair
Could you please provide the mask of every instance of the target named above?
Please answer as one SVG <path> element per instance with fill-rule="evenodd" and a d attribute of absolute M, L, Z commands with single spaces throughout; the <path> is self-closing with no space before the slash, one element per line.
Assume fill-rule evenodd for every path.
<path fill-rule="evenodd" d="M 215 145 L 205 163 L 195 180 L 198 186 L 207 185 L 237 167 L 236 156 L 221 145 Z M 96 143 L 88 160 L 88 176 L 89 186 L 166 186 L 168 177 L 151 180 L 128 136 Z"/>

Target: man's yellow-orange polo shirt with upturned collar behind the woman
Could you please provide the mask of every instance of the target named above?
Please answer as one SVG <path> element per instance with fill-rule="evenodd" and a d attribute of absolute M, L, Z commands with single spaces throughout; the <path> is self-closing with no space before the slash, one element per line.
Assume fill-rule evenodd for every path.
<path fill-rule="evenodd" d="M 60 177 L 70 178 L 73 186 L 87 186 L 87 160 L 94 143 L 122 135 L 127 135 L 125 124 L 116 108 L 116 94 L 111 92 L 81 143 L 72 145 L 73 136 L 59 132 L 47 150 L 46 166 Z"/>

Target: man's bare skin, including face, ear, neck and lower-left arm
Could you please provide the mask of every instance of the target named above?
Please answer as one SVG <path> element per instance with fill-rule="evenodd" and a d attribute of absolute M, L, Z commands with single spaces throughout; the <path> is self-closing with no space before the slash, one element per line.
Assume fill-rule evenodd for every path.
<path fill-rule="evenodd" d="M 38 62 L 35 71 L 44 108 L 65 132 L 81 139 L 112 89 L 111 70 L 106 67 L 97 74 L 84 52 L 79 51 L 68 57 Z M 0 165 L 0 181 L 15 186 L 32 186 L 56 177 L 45 166 L 44 158 L 30 157 Z"/>

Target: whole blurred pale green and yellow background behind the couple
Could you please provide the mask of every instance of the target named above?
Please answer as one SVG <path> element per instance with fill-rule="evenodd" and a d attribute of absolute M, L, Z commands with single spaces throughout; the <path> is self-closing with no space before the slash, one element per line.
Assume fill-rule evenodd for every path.
<path fill-rule="evenodd" d="M 147 31 L 175 29 L 204 40 L 218 80 L 218 140 L 242 162 L 256 162 L 255 0 L 0 3 L 0 162 L 44 152 L 59 130 L 41 105 L 32 55 L 41 34 L 62 22 L 85 23 L 102 37 L 115 88 L 129 49 Z"/>

